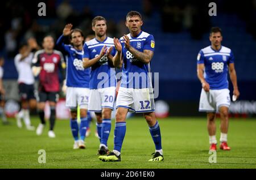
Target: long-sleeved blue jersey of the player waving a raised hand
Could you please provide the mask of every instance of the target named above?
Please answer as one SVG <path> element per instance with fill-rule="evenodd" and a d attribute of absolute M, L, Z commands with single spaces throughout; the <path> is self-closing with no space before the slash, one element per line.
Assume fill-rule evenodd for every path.
<path fill-rule="evenodd" d="M 89 88 L 90 68 L 82 66 L 82 55 L 84 50 L 77 50 L 72 45 L 64 44 L 64 36 L 61 35 L 56 45 L 66 55 L 67 61 L 67 87 Z"/>

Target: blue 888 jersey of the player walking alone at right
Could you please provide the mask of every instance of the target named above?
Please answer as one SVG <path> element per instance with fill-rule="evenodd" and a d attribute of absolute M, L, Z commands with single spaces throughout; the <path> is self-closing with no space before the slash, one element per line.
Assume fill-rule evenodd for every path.
<path fill-rule="evenodd" d="M 204 64 L 204 77 L 210 89 L 226 89 L 228 84 L 228 65 L 234 63 L 232 50 L 221 46 L 220 50 L 208 46 L 197 55 L 197 64 Z"/>

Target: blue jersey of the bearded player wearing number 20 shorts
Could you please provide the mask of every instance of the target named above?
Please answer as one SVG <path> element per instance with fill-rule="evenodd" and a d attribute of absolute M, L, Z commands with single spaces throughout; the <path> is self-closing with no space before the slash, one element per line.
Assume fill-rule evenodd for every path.
<path fill-rule="evenodd" d="M 115 55 L 114 40 L 113 38 L 106 37 L 102 42 L 98 41 L 96 38 L 93 38 L 90 41 L 85 42 L 84 44 L 84 55 L 83 58 L 93 59 L 96 58 L 103 46 L 110 48 L 113 46 L 111 54 Z M 97 63 L 95 63 L 90 72 L 90 89 L 100 89 L 107 87 L 115 87 L 115 68 L 112 65 L 112 62 L 109 62 L 106 55 L 104 55 Z"/>

